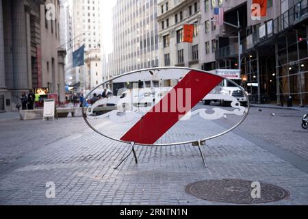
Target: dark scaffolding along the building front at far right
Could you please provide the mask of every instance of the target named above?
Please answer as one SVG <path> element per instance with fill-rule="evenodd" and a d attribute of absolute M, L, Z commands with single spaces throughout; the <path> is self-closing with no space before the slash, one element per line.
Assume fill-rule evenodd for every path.
<path fill-rule="evenodd" d="M 298 1 L 274 20 L 259 24 L 242 40 L 242 45 L 241 60 L 238 51 L 230 49 L 232 45 L 218 49 L 216 66 L 235 68 L 231 62 L 242 63 L 242 79 L 254 103 L 275 101 L 284 105 L 289 100 L 308 105 L 307 0 Z M 227 53 L 222 53 L 224 50 Z"/>

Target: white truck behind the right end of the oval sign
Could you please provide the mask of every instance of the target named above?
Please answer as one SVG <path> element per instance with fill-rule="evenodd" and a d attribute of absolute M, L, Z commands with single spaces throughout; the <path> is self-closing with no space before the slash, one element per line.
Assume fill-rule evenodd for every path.
<path fill-rule="evenodd" d="M 239 88 L 242 83 L 240 70 L 218 69 L 210 71 L 209 73 L 219 75 L 234 81 L 238 86 L 224 79 L 219 86 L 216 86 L 205 98 L 202 100 L 203 104 L 210 105 L 211 102 L 218 102 L 221 106 L 230 105 L 233 99 L 237 99 L 241 105 L 247 105 L 247 99 L 243 91 Z"/>

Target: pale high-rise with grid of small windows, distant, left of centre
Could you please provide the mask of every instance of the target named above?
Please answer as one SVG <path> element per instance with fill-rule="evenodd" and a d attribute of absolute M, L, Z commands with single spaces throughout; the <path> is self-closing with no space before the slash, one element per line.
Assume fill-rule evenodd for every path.
<path fill-rule="evenodd" d="M 91 78 L 94 81 L 101 81 L 97 75 L 102 74 L 101 68 L 101 15 L 100 7 L 102 1 L 100 0 L 73 0 L 73 47 L 75 51 L 82 45 L 85 45 L 85 59 L 89 57 L 99 57 L 97 64 L 99 68 L 90 68 L 92 64 L 85 64 L 77 68 L 70 68 L 75 71 L 74 73 L 66 73 L 66 81 L 69 85 L 80 83 L 79 92 L 90 90 L 94 88 L 91 83 Z M 98 54 L 99 51 L 99 54 Z"/>

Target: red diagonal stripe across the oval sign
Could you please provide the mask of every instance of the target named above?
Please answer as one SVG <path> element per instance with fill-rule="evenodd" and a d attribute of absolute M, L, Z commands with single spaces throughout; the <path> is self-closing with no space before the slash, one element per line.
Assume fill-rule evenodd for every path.
<path fill-rule="evenodd" d="M 186 112 L 188 113 L 201 99 L 218 86 L 221 81 L 222 77 L 192 70 L 173 89 L 176 93 L 178 89 L 191 89 L 191 108 Z M 168 101 L 168 108 L 170 109 L 170 93 L 164 96 L 157 105 L 162 106 L 163 102 L 166 103 Z M 185 92 L 183 102 L 185 104 Z M 155 112 L 154 108 L 143 116 L 120 140 L 138 144 L 154 144 L 164 133 L 179 122 L 181 115 L 184 116 L 183 112 L 179 112 L 178 109 L 175 110 L 176 112 L 170 112 L 170 110 L 168 112 L 162 112 L 162 110 Z"/>

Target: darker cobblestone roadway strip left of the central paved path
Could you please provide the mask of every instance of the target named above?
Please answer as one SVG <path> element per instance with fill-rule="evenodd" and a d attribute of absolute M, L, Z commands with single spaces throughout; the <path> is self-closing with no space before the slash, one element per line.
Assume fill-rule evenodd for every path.
<path fill-rule="evenodd" d="M 0 124 L 0 172 L 3 164 L 87 128 L 83 118 L 21 121 L 14 113 L 1 115 Z"/>

